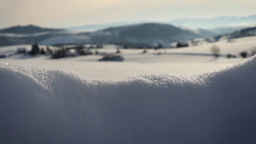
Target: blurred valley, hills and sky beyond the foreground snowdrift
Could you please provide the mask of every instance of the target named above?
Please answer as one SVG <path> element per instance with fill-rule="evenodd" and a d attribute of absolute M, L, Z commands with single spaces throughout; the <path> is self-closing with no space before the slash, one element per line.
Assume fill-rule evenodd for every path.
<path fill-rule="evenodd" d="M 3 3 L 4 62 L 111 79 L 150 73 L 192 75 L 256 53 L 252 0 Z"/>

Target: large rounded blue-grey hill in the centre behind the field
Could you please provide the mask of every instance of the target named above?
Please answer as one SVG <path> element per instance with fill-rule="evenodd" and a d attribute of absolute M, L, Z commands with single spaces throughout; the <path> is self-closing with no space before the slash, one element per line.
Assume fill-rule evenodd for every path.
<path fill-rule="evenodd" d="M 170 24 L 142 23 L 126 26 L 110 27 L 91 33 L 93 43 L 161 43 L 169 46 L 175 41 L 187 41 L 204 37 L 189 30 L 183 30 Z"/>

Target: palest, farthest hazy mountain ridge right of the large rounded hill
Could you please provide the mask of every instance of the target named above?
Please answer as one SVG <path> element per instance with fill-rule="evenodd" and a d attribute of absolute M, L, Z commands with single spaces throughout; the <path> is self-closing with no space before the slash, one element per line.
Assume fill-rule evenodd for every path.
<path fill-rule="evenodd" d="M 214 18 L 179 18 L 170 20 L 169 23 L 190 28 L 251 26 L 256 24 L 256 14 L 249 16 L 218 16 Z"/>

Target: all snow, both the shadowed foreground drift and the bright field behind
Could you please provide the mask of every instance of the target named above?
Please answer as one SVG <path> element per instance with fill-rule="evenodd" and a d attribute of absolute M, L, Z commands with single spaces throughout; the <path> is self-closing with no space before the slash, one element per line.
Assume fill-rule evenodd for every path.
<path fill-rule="evenodd" d="M 232 41 L 120 49 L 123 62 L 1 58 L 0 143 L 255 143 L 256 56 L 224 55 L 253 50 L 256 36 Z M 18 47 L 31 49 L 0 54 Z"/>

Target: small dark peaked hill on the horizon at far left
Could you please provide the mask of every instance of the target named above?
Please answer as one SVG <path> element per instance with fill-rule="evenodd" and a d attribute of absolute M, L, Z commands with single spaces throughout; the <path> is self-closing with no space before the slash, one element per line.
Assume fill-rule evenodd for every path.
<path fill-rule="evenodd" d="M 39 32 L 57 32 L 63 31 L 64 29 L 54 29 L 54 28 L 42 28 L 35 25 L 26 26 L 12 26 L 4 29 L 0 29 L 0 33 L 16 33 L 16 34 L 32 34 Z"/>

